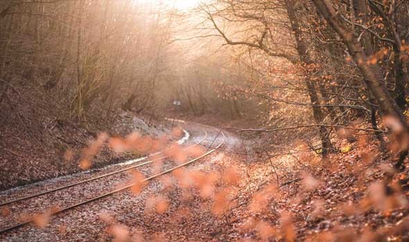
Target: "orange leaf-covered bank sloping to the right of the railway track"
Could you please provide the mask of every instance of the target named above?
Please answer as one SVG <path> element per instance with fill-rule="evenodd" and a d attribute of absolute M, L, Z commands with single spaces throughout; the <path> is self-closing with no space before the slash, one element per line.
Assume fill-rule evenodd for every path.
<path fill-rule="evenodd" d="M 252 158 L 238 140 L 193 168 L 218 177 L 213 198 L 204 196 L 204 187 L 180 189 L 183 207 L 172 215 L 146 215 L 150 219 L 135 236 L 146 241 L 408 241 L 408 170 L 394 171 L 394 160 L 378 153 L 376 142 L 350 140 L 338 143 L 342 149 L 324 161 L 311 152 L 297 159 Z"/>

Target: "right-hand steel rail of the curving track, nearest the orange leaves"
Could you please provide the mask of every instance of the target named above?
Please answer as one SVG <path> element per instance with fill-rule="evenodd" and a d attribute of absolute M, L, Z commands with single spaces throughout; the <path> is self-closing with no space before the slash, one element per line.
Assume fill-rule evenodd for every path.
<path fill-rule="evenodd" d="M 222 140 L 222 142 L 220 142 L 220 144 L 218 144 L 214 149 L 211 149 L 211 150 L 207 151 L 206 153 L 203 153 L 201 156 L 198 156 L 198 157 L 194 158 L 193 160 L 189 160 L 188 162 L 184 162 L 184 163 L 181 164 L 181 165 L 177 165 L 176 167 L 173 167 L 173 168 L 171 168 L 171 169 L 168 169 L 167 171 L 163 171 L 163 172 L 161 172 L 161 173 L 159 173 L 159 174 L 156 174 L 156 175 L 150 176 L 150 177 L 148 177 L 148 178 L 145 178 L 145 179 L 141 180 L 141 182 L 144 183 L 144 182 L 146 182 L 146 181 L 148 181 L 148 180 L 153 180 L 154 178 L 157 178 L 157 177 L 162 176 L 162 175 L 164 175 L 164 174 L 168 174 L 168 173 L 174 171 L 175 169 L 179 169 L 179 168 L 181 168 L 181 167 L 185 167 L 186 165 L 190 165 L 191 163 L 195 162 L 196 160 L 199 160 L 200 158 L 204 158 L 205 156 L 208 156 L 209 154 L 214 153 L 214 151 L 216 151 L 216 150 L 219 149 L 222 145 L 225 144 L 226 136 L 225 136 L 225 134 L 224 134 L 220 129 L 219 129 L 218 135 L 216 136 L 216 138 L 215 138 L 214 140 L 216 140 L 216 139 L 218 138 L 218 136 L 220 135 L 220 133 L 221 133 L 222 136 L 223 136 L 223 140 Z M 212 142 L 212 144 L 213 144 L 213 142 Z M 87 204 L 87 203 L 91 203 L 91 202 L 93 202 L 93 201 L 97 201 L 97 200 L 99 200 L 99 199 L 101 199 L 101 198 L 105 198 L 105 197 L 107 197 L 107 196 L 111 196 L 111 195 L 116 194 L 116 193 L 119 193 L 119 192 L 123 192 L 125 189 L 128 189 L 128 188 L 130 188 L 130 187 L 132 187 L 132 186 L 134 186 L 134 185 L 136 185 L 136 183 L 132 183 L 132 184 L 130 184 L 130 185 L 126 185 L 126 186 L 121 187 L 121 188 L 119 188 L 119 189 L 115 189 L 114 191 L 107 192 L 107 193 L 105 193 L 105 194 L 102 194 L 102 195 L 100 195 L 100 196 L 96 196 L 96 197 L 94 197 L 94 198 L 90 198 L 90 199 L 88 199 L 88 200 L 86 200 L 86 201 L 82 201 L 82 202 L 80 202 L 80 203 L 76 203 L 76 204 L 74 204 L 74 205 L 70 205 L 70 206 L 68 206 L 68 207 L 64 207 L 64 208 L 62 208 L 62 209 L 60 209 L 60 210 L 54 210 L 53 212 L 51 212 L 50 216 L 55 215 L 55 214 L 60 214 L 60 213 L 62 213 L 62 212 L 71 210 L 71 209 L 73 209 L 73 208 L 75 208 L 75 207 L 79 207 L 80 205 L 85 205 L 85 204 Z M 9 231 L 11 231 L 11 230 L 15 230 L 15 229 L 17 229 L 17 228 L 19 228 L 19 227 L 23 227 L 24 225 L 28 225 L 29 223 L 33 223 L 33 219 L 28 220 L 28 221 L 24 221 L 24 222 L 21 222 L 21 223 L 18 223 L 17 225 L 12 225 L 12 226 L 10 226 L 10 227 L 5 227 L 5 228 L 3 228 L 3 229 L 0 229 L 0 234 L 3 234 L 4 232 L 9 232 Z"/>

